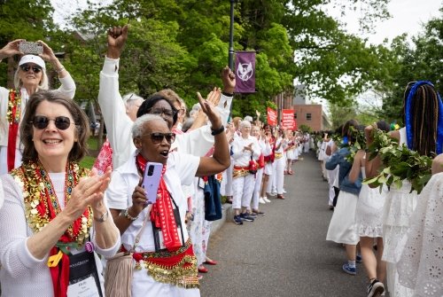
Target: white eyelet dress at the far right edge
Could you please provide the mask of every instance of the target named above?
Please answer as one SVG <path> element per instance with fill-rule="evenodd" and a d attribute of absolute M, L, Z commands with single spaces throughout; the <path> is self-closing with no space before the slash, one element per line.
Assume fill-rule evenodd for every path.
<path fill-rule="evenodd" d="M 443 173 L 424 187 L 410 217 L 408 240 L 397 264 L 400 284 L 414 296 L 443 296 Z"/>

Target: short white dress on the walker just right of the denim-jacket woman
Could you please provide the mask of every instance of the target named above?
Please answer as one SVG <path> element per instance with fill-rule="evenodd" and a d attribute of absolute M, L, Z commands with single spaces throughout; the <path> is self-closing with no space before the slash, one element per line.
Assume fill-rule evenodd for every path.
<path fill-rule="evenodd" d="M 366 178 L 365 168 L 361 168 L 363 179 Z M 372 189 L 368 184 L 361 184 L 357 209 L 355 210 L 355 222 L 360 237 L 381 238 L 383 237 L 383 207 L 387 189 Z"/>

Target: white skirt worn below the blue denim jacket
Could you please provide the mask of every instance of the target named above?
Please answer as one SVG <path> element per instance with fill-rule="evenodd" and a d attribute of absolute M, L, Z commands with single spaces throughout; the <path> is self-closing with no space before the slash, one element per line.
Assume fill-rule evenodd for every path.
<path fill-rule="evenodd" d="M 339 244 L 356 245 L 360 241 L 355 223 L 355 208 L 357 207 L 358 196 L 340 191 L 334 214 L 330 218 L 330 227 L 326 240 Z"/>

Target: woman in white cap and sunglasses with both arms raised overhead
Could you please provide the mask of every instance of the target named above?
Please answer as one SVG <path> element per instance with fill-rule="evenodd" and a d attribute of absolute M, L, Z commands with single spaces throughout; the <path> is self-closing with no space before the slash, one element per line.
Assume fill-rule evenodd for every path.
<path fill-rule="evenodd" d="M 19 44 L 23 39 L 14 40 L 0 49 L 0 60 L 14 55 L 23 55 Z M 0 174 L 7 173 L 21 163 L 22 148 L 19 145 L 19 124 L 29 97 L 37 90 L 48 90 L 49 79 L 44 61 L 51 63 L 58 74 L 61 86 L 58 88 L 68 98 L 74 98 L 75 83 L 71 75 L 61 65 L 51 48 L 43 41 L 43 53 L 38 56 L 24 55 L 14 74 L 14 89 L 0 87 Z"/>

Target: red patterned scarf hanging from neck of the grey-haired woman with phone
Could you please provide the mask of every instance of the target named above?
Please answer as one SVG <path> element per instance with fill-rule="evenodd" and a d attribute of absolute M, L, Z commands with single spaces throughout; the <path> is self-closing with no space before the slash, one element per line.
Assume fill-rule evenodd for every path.
<path fill-rule="evenodd" d="M 141 153 L 137 154 L 136 163 L 138 168 L 144 172 L 147 160 L 144 159 Z M 167 250 L 169 252 L 174 252 L 182 246 L 182 242 L 180 241 L 177 231 L 177 223 L 175 222 L 173 205 L 171 199 L 169 198 L 169 192 L 167 191 L 165 179 L 163 178 L 166 170 L 167 166 L 163 165 L 159 189 L 157 190 L 157 202 L 152 205 L 151 209 L 151 221 L 155 223 L 157 228 L 161 229 Z"/>

